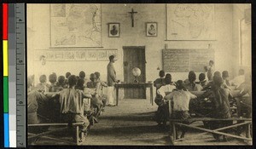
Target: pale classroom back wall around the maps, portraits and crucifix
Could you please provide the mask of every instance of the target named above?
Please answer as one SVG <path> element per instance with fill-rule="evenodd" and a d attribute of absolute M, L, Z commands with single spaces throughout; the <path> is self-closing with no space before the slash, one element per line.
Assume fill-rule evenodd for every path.
<path fill-rule="evenodd" d="M 135 26 L 131 27 L 131 9 L 135 14 Z M 27 6 L 28 20 L 28 75 L 65 75 L 67 71 L 78 74 L 81 70 L 90 75 L 91 72 L 101 72 L 106 79 L 108 61 L 47 61 L 46 66 L 40 67 L 38 61 L 33 61 L 36 49 L 49 49 L 49 4 L 29 4 Z M 30 12 L 31 11 L 31 12 Z M 158 77 L 157 67 L 162 68 L 161 51 L 165 44 L 169 49 L 199 49 L 212 44 L 215 49 L 215 64 L 217 71 L 230 71 L 230 76 L 236 71 L 237 45 L 233 36 L 233 6 L 230 4 L 215 5 L 216 41 L 165 41 L 166 40 L 166 5 L 165 4 L 102 4 L 102 45 L 103 49 L 118 49 L 119 60 L 115 64 L 117 77 L 123 79 L 123 46 L 145 46 L 146 49 L 146 81 L 154 81 Z M 145 36 L 145 23 L 158 23 L 158 36 Z M 108 37 L 108 23 L 120 23 L 120 37 Z M 49 49 L 51 50 L 51 49 Z M 185 79 L 188 73 L 172 72 L 173 80 Z"/>

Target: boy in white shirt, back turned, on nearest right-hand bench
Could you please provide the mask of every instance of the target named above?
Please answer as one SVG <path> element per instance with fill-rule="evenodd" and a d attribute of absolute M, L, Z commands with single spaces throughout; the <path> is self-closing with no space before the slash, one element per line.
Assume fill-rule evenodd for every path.
<path fill-rule="evenodd" d="M 186 120 L 190 117 L 189 115 L 189 100 L 195 99 L 196 96 L 191 94 L 183 86 L 183 81 L 178 80 L 176 83 L 176 89 L 171 94 L 166 95 L 165 100 L 171 100 L 173 102 L 172 107 L 172 118 Z M 184 137 L 186 129 L 180 127 L 182 131 L 181 138 Z"/>

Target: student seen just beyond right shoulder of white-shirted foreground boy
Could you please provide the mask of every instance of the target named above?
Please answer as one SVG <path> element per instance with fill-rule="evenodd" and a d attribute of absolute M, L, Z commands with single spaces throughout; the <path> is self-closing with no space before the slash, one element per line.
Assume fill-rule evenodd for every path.
<path fill-rule="evenodd" d="M 189 91 L 201 91 L 203 89 L 200 84 L 195 83 L 196 75 L 194 71 L 189 72 L 189 83 L 185 84 L 185 88 Z"/>

